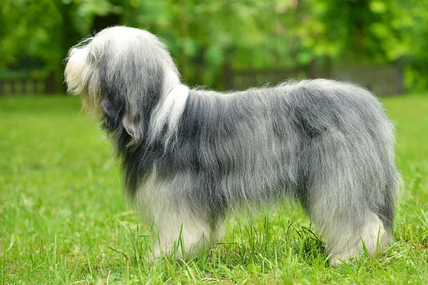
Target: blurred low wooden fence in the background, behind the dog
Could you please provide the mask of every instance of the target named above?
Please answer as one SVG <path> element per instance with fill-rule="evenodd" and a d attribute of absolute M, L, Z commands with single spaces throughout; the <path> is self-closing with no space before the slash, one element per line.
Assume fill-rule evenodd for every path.
<path fill-rule="evenodd" d="M 238 70 L 224 66 L 223 89 L 243 90 L 254 86 L 264 86 L 287 79 L 303 78 L 332 78 L 349 81 L 365 86 L 377 95 L 393 95 L 404 93 L 403 73 L 401 64 L 389 66 L 332 66 L 316 68 L 313 65 L 307 68 L 253 68 Z M 37 95 L 63 92 L 57 90 L 54 73 L 46 79 L 0 79 L 0 95 Z"/>

